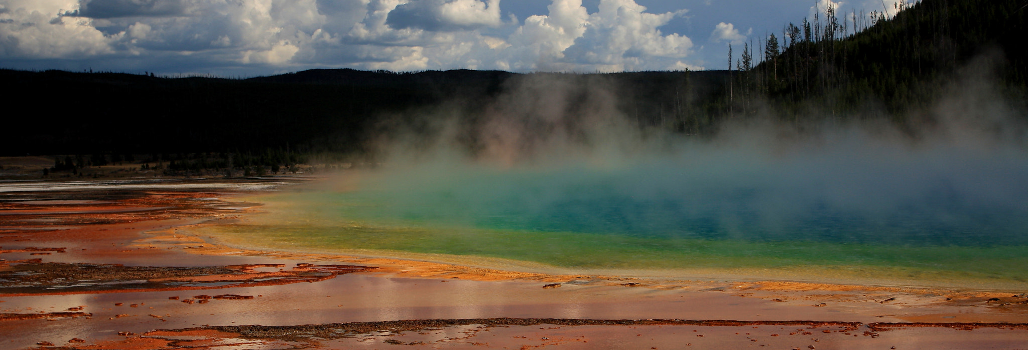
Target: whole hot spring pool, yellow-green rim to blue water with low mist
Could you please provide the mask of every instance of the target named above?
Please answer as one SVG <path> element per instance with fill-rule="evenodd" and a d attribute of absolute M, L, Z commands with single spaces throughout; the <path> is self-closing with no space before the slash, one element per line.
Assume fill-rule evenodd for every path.
<path fill-rule="evenodd" d="M 396 158 L 314 190 L 257 198 L 267 213 L 209 230 L 247 245 L 573 271 L 1028 285 L 1022 143 L 859 127 L 792 139 L 778 131 L 513 165 L 445 152 Z"/>

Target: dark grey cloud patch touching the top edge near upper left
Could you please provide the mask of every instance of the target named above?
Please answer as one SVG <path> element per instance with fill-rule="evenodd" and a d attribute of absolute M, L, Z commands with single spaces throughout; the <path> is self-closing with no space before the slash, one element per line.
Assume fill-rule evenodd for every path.
<path fill-rule="evenodd" d="M 79 0 L 79 9 L 65 15 L 90 18 L 163 17 L 187 15 L 186 0 Z"/>

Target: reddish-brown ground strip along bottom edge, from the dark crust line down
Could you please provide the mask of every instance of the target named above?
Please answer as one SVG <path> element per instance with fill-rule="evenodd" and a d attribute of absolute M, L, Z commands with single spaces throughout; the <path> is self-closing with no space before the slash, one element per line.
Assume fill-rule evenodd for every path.
<path fill-rule="evenodd" d="M 664 330 L 660 328 L 664 328 Z M 667 340 L 656 340 L 660 333 L 672 333 L 673 348 L 692 346 L 696 342 L 726 347 L 726 343 L 751 346 L 748 343 L 802 343 L 822 346 L 843 344 L 885 344 L 875 341 L 883 337 L 903 338 L 908 333 L 890 337 L 891 332 L 911 327 L 953 328 L 972 330 L 983 328 L 1028 329 L 1025 323 L 884 323 L 864 324 L 842 321 L 738 321 L 738 320 L 681 320 L 681 319 L 568 319 L 568 318 L 478 318 L 478 319 L 428 319 L 387 322 L 352 322 L 296 326 L 208 326 L 187 329 L 151 330 L 138 337 L 126 337 L 117 341 L 101 341 L 68 344 L 67 349 L 79 350 L 157 350 L 157 349 L 209 349 L 219 347 L 261 347 L 283 349 L 327 349 L 339 344 L 379 343 L 382 345 L 409 345 L 438 348 L 440 346 L 491 346 L 530 349 L 558 346 L 575 348 L 604 347 L 600 342 L 610 342 L 611 336 L 621 342 L 635 345 L 648 340 L 666 345 Z M 501 330 L 506 329 L 506 330 Z M 691 330 L 691 332 L 690 332 Z M 734 332 L 736 337 L 731 337 Z M 923 332 L 923 330 L 922 330 Z M 519 334 L 534 337 L 513 336 L 487 338 L 487 333 Z M 437 337 L 432 337 L 436 335 Z M 712 334 L 712 335 L 711 335 Z M 937 332 L 938 334 L 938 332 Z M 438 337 L 438 335 L 444 335 Z M 576 335 L 571 336 L 568 335 Z M 608 339 L 603 339 L 603 336 Z M 946 337 L 975 339 L 990 337 L 988 334 L 954 335 Z M 549 336 L 549 337 L 542 337 Z M 634 337 L 633 337 L 634 336 Z M 645 337 L 644 337 L 645 336 Z M 704 336 L 713 336 L 705 338 Z M 749 336 L 749 337 L 747 337 Z M 862 337 L 861 337 L 862 336 Z M 851 338 L 852 337 L 852 338 Z M 531 339 L 529 339 L 531 338 Z M 637 338 L 637 339 L 633 339 Z M 736 339 L 730 339 L 736 338 Z M 745 339 L 742 339 L 745 338 Z M 854 339 L 855 338 L 855 339 Z M 1014 338 L 1015 340 L 1018 338 Z M 479 342 L 479 340 L 481 342 Z M 595 345 L 589 346 L 592 340 Z M 763 342 L 762 342 L 763 340 Z M 822 340 L 824 341 L 823 343 Z M 1002 340 L 993 340 L 1002 344 Z M 600 343 L 600 344 L 596 344 Z M 893 342 L 894 343 L 894 342 Z M 986 346 L 989 340 L 978 343 Z M 538 344 L 538 345 L 536 345 Z M 891 344 L 891 343 L 889 343 Z M 765 346 L 768 344 L 760 345 Z M 738 348 L 739 346 L 735 346 Z M 839 346 L 845 347 L 845 346 Z M 651 347 L 656 348 L 656 347 Z M 702 348 L 702 347 L 701 347 Z M 811 345 L 805 347 L 815 349 Z"/>

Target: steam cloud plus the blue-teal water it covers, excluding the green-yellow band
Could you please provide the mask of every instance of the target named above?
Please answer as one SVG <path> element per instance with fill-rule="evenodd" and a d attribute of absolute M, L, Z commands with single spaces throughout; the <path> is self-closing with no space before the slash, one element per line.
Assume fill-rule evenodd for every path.
<path fill-rule="evenodd" d="M 514 230 L 1028 244 L 1024 115 L 986 77 L 965 74 L 913 133 L 756 118 L 700 138 L 638 127 L 601 77 L 534 75 L 484 112 L 440 107 L 384 138 L 361 188 L 398 220 Z"/>

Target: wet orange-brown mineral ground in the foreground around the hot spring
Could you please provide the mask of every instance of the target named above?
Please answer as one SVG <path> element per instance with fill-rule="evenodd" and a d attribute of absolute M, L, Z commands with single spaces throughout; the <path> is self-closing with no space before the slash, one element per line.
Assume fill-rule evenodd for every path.
<path fill-rule="evenodd" d="M 0 184 L 0 348 L 1028 344 L 1018 293 L 540 275 L 188 234 L 260 210 L 242 195 L 295 182 Z"/>

